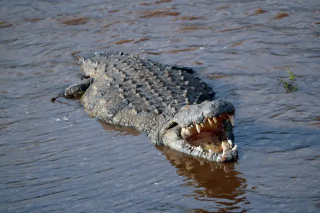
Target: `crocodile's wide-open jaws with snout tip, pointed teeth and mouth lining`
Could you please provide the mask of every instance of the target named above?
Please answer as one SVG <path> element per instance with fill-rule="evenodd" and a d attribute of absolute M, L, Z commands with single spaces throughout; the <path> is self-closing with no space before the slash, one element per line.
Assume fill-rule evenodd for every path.
<path fill-rule="evenodd" d="M 228 161 L 226 158 L 237 155 L 237 146 L 232 141 L 235 110 L 231 103 L 217 100 L 191 106 L 187 111 L 192 113 L 185 114 L 177 123 L 184 147 L 191 155 L 213 161 Z"/>

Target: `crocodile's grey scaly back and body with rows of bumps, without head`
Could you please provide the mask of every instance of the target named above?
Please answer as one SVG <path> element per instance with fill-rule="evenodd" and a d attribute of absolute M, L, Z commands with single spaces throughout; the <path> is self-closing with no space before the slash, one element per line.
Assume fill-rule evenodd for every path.
<path fill-rule="evenodd" d="M 81 64 L 94 82 L 82 96 L 85 110 L 102 120 L 146 131 L 187 104 L 213 100 L 211 88 L 189 69 L 135 54 L 94 54 Z M 185 71 L 187 70 L 187 71 Z"/>

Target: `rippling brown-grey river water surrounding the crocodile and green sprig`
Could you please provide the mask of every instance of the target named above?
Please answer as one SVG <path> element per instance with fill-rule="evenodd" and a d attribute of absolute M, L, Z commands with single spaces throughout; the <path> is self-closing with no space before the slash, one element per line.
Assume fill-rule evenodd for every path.
<path fill-rule="evenodd" d="M 0 14 L 0 212 L 320 211 L 318 0 L 2 0 Z M 72 53 L 98 50 L 195 67 L 236 107 L 238 162 L 51 103 L 79 79 Z M 287 68 L 297 92 L 276 82 Z"/>

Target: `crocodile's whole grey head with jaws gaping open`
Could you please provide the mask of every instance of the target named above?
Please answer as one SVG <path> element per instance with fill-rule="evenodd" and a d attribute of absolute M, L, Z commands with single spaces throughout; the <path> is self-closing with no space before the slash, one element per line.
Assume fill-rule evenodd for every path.
<path fill-rule="evenodd" d="M 204 101 L 182 107 L 160 130 L 162 143 L 172 149 L 206 158 L 233 161 L 237 158 L 234 106 L 226 100 Z"/>

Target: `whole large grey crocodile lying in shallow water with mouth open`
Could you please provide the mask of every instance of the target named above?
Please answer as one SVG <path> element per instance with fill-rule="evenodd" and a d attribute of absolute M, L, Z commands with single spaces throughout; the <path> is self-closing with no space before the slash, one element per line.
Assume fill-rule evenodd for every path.
<path fill-rule="evenodd" d="M 123 52 L 78 56 L 82 80 L 52 97 L 80 97 L 86 113 L 145 132 L 155 145 L 208 161 L 234 161 L 235 108 L 214 99 L 190 67 L 164 65 Z"/>

